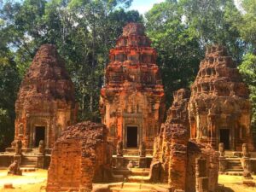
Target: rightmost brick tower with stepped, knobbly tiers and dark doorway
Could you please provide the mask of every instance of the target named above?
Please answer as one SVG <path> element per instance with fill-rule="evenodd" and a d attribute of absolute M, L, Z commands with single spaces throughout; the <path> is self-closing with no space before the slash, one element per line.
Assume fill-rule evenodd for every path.
<path fill-rule="evenodd" d="M 247 143 L 253 150 L 250 129 L 251 102 L 247 85 L 223 46 L 207 48 L 191 86 L 189 100 L 190 137 L 218 149 L 240 150 Z"/>

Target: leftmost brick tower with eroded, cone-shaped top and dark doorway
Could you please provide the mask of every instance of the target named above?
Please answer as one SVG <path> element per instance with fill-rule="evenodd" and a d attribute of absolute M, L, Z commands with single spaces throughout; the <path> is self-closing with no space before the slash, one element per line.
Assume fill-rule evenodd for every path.
<path fill-rule="evenodd" d="M 74 87 L 55 45 L 44 44 L 35 55 L 15 103 L 15 141 L 22 148 L 38 148 L 55 140 L 76 119 Z"/>

